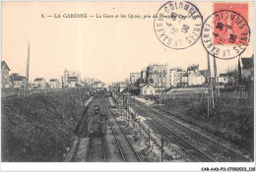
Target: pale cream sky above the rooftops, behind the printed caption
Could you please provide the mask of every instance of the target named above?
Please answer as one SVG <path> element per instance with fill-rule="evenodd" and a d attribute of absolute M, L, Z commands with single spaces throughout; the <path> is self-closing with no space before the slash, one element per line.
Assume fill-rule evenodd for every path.
<path fill-rule="evenodd" d="M 82 79 L 106 84 L 121 82 L 149 64 L 186 69 L 199 64 L 207 69 L 207 52 L 200 39 L 182 50 L 160 43 L 154 19 L 96 18 L 98 15 L 154 15 L 164 2 L 2 2 L 2 55 L 11 73 L 25 76 L 28 42 L 31 45 L 30 81 L 61 79 L 65 69 L 80 71 Z M 213 2 L 193 2 L 203 20 L 213 13 Z M 41 15 L 61 18 L 41 18 Z M 87 14 L 95 18 L 63 18 L 63 14 Z M 249 6 L 249 19 L 253 19 Z M 251 41 L 241 57 L 253 54 Z M 235 68 L 238 59 L 217 59 L 218 73 Z"/>

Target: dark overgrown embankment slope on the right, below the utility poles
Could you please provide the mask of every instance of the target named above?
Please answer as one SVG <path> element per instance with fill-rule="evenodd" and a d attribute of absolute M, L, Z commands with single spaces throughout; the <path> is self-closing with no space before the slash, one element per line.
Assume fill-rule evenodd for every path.
<path fill-rule="evenodd" d="M 206 130 L 226 141 L 253 152 L 253 99 L 228 99 L 216 102 L 207 117 L 207 100 L 169 99 L 163 109 L 170 114 Z"/>

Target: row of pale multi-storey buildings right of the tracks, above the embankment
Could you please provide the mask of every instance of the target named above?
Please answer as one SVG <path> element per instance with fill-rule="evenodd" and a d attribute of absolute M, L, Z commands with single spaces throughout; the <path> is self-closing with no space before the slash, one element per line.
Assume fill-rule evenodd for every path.
<path fill-rule="evenodd" d="M 224 73 L 217 76 L 219 86 L 234 86 L 253 81 L 253 59 L 239 58 L 237 74 Z M 212 75 L 213 76 L 213 75 Z M 140 87 L 141 94 L 158 94 L 171 87 L 206 86 L 209 84 L 208 70 L 200 70 L 199 65 L 191 65 L 186 70 L 170 68 L 168 64 L 150 64 L 140 73 L 130 74 L 130 84 Z M 216 79 L 212 77 L 212 81 Z"/>

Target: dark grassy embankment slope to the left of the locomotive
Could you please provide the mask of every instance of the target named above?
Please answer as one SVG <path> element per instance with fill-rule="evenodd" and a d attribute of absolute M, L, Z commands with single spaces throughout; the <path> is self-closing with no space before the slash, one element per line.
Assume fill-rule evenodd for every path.
<path fill-rule="evenodd" d="M 82 89 L 83 104 L 89 98 Z M 2 99 L 2 161 L 62 161 L 81 118 L 78 88 Z"/>

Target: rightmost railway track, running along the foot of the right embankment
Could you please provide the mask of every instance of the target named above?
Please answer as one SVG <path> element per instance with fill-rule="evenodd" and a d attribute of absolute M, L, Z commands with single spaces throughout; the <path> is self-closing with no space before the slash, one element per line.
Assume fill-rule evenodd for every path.
<path fill-rule="evenodd" d="M 204 143 L 208 147 L 214 149 L 215 151 L 213 152 L 213 154 L 216 154 L 217 152 L 219 152 L 219 154 L 222 154 L 223 157 L 221 159 L 218 159 L 219 161 L 235 161 L 235 162 L 249 162 L 250 161 L 250 159 L 248 157 L 240 154 L 239 152 L 236 152 L 236 151 L 234 151 L 234 150 L 232 150 L 214 140 L 206 138 L 203 135 L 189 129 L 188 127 L 175 122 L 174 120 L 170 119 L 169 117 L 166 117 L 163 112 L 159 112 L 158 110 L 154 109 L 153 107 L 148 107 L 146 104 L 144 104 L 138 100 L 136 100 L 136 102 L 137 102 L 137 104 L 139 103 L 141 105 L 139 107 L 137 105 L 136 108 L 141 108 L 141 111 L 144 114 L 146 114 L 146 112 L 148 111 L 146 108 L 149 108 L 149 113 L 151 114 L 151 116 L 154 116 L 152 119 L 155 122 L 160 123 L 160 121 L 163 120 L 168 125 L 177 128 L 178 130 L 182 131 L 183 133 L 190 136 L 194 140 L 197 140 L 200 143 Z M 162 124 L 160 123 L 160 125 L 162 125 Z M 213 154 L 211 153 L 211 155 L 209 155 L 209 156 L 213 156 Z"/>

